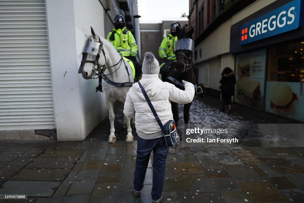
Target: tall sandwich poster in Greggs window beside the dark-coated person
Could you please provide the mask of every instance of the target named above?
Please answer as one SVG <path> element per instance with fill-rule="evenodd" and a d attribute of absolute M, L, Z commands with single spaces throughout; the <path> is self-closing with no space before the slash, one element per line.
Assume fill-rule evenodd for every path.
<path fill-rule="evenodd" d="M 235 101 L 263 109 L 266 50 L 238 54 L 235 62 Z"/>

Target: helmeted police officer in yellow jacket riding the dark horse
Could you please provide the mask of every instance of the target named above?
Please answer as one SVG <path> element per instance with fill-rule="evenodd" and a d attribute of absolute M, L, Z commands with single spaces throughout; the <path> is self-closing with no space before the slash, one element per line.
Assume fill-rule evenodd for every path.
<path fill-rule="evenodd" d="M 178 22 L 174 21 L 171 23 L 170 33 L 163 39 L 161 46 L 158 49 L 158 54 L 165 63 L 168 61 L 176 61 L 174 54 L 174 46 L 177 41 L 176 27 L 181 29 L 181 25 Z"/>

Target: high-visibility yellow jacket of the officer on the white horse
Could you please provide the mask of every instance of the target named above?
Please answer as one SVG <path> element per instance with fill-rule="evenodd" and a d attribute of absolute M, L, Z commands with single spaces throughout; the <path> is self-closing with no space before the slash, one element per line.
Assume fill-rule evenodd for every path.
<path fill-rule="evenodd" d="M 108 34 L 107 40 L 123 56 L 135 56 L 137 54 L 137 44 L 133 34 L 126 27 L 123 29 L 113 30 Z"/>

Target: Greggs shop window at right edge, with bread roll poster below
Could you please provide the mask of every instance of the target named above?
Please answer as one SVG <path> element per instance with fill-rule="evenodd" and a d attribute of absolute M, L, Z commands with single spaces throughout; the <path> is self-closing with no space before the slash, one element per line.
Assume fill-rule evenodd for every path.
<path fill-rule="evenodd" d="M 304 40 L 269 48 L 265 110 L 304 121 Z"/>

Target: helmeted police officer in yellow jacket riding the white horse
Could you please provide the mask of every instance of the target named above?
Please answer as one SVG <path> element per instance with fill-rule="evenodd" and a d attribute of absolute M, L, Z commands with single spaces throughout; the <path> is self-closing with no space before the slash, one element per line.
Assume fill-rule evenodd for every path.
<path fill-rule="evenodd" d="M 122 56 L 132 60 L 135 63 L 136 78 L 139 79 L 142 71 L 140 63 L 136 60 L 138 47 L 135 38 L 133 37 L 131 31 L 126 28 L 124 12 L 121 9 L 116 9 L 113 16 L 114 27 L 108 34 L 107 40 L 111 42 L 111 44 Z M 102 78 L 99 77 L 99 83 L 96 86 L 96 91 L 98 90 L 102 92 L 101 80 Z"/>

